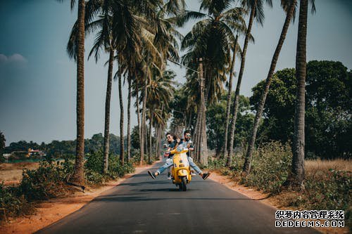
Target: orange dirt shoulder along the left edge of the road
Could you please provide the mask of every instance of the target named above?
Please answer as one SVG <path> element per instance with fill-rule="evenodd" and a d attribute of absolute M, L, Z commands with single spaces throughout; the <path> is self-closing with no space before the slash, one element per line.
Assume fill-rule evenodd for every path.
<path fill-rule="evenodd" d="M 99 196 L 106 190 L 109 190 L 118 184 L 125 181 L 126 178 L 130 178 L 134 174 L 138 174 L 145 169 L 149 169 L 153 167 L 153 165 L 144 165 L 142 167 L 136 167 L 134 173 L 127 174 L 122 178 L 119 178 L 117 181 L 111 181 L 107 183 L 105 186 L 101 186 L 100 188 L 91 188 L 85 191 L 85 193 L 77 192 L 73 195 L 69 195 L 68 197 L 61 197 L 56 199 L 51 199 L 45 202 L 39 202 L 35 204 L 36 212 L 30 216 L 23 216 L 16 219 L 10 219 L 7 223 L 1 223 L 0 225 L 0 233 L 8 234 L 8 233 L 34 233 L 39 229 L 42 229 L 51 223 L 55 223 L 56 221 L 63 219 L 63 217 L 71 214 L 81 207 L 84 204 L 92 201 L 94 197 Z"/>

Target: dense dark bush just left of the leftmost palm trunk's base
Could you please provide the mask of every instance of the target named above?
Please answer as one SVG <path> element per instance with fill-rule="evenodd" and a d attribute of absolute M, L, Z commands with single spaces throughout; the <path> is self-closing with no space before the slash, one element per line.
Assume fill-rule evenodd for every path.
<path fill-rule="evenodd" d="M 68 192 L 65 171 L 58 164 L 41 162 L 38 169 L 23 169 L 20 193 L 29 201 L 47 200 Z"/>

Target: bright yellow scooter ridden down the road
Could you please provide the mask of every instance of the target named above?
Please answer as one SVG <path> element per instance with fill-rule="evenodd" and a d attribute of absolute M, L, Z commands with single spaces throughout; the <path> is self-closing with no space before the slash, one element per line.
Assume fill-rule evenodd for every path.
<path fill-rule="evenodd" d="M 187 191 L 187 184 L 191 182 L 192 178 L 187 152 L 188 148 L 183 148 L 182 145 L 170 151 L 173 154 L 173 167 L 171 169 L 172 183 L 179 186 L 180 190 L 183 191 Z"/>

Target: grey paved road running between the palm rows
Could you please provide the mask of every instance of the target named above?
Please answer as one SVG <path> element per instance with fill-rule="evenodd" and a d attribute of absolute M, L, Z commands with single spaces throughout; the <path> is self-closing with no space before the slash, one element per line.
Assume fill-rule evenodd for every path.
<path fill-rule="evenodd" d="M 142 171 L 37 233 L 318 232 L 275 228 L 275 209 L 209 179 L 196 176 L 183 192 L 166 174 L 153 180 Z"/>

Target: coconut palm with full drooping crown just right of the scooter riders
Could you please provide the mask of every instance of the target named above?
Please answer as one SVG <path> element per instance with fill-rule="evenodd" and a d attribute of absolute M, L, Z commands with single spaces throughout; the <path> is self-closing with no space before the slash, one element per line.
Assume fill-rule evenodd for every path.
<path fill-rule="evenodd" d="M 234 32 L 244 27 L 243 8 L 232 8 L 232 1 L 202 1 L 201 10 L 207 13 L 186 11 L 178 17 L 179 25 L 183 25 L 189 19 L 199 19 L 191 32 L 189 32 L 182 41 L 182 49 L 187 49 L 188 53 L 182 58 L 182 63 L 187 66 L 194 64 L 198 58 L 202 58 L 204 69 L 201 75 L 204 80 L 200 79 L 201 86 L 201 103 L 199 114 L 201 118 L 198 120 L 201 125 L 197 124 L 200 131 L 197 136 L 200 139 L 206 138 L 206 104 L 202 100 L 216 100 L 210 98 L 213 93 L 220 94 L 222 91 L 222 82 L 225 79 L 225 69 L 230 67 L 230 51 L 231 45 L 235 43 L 236 37 Z M 200 63 L 196 63 L 201 65 Z M 204 82 L 204 86 L 203 86 Z M 216 87 L 220 84 L 220 89 Z M 204 92 L 204 93 L 203 93 Z M 202 98 L 204 96 L 204 99 Z M 216 97 L 216 95 L 215 95 Z M 202 108 L 203 107 L 203 108 Z M 202 129 L 204 133 L 202 134 Z M 196 137 L 199 140 L 198 137 Z M 201 140 L 201 145 L 206 145 L 206 141 Z M 203 147 L 204 149 L 204 147 Z M 197 153 L 197 150 L 196 150 Z M 202 157 L 207 157 L 204 152 Z M 203 160 L 203 164 L 207 164 L 207 160 Z"/>

